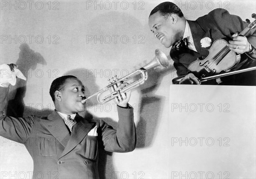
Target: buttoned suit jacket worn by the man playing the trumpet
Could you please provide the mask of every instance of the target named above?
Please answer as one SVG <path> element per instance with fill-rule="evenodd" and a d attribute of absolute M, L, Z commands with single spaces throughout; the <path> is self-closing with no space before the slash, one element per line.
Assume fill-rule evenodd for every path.
<path fill-rule="evenodd" d="M 99 146 L 110 152 L 129 152 L 135 148 L 133 109 L 117 108 L 117 130 L 104 121 L 88 122 L 77 114 L 70 135 L 55 111 L 48 117 L 3 115 L 8 88 L 0 90 L 0 136 L 26 146 L 34 162 L 33 178 L 98 179 Z M 96 125 L 98 136 L 88 136 Z"/>

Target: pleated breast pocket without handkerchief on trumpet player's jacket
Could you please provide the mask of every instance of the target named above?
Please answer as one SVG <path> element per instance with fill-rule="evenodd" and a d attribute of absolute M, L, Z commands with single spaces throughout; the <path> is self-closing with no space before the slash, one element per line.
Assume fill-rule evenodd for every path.
<path fill-rule="evenodd" d="M 57 154 L 56 139 L 49 134 L 36 134 L 37 153 L 39 156 L 55 156 Z"/>

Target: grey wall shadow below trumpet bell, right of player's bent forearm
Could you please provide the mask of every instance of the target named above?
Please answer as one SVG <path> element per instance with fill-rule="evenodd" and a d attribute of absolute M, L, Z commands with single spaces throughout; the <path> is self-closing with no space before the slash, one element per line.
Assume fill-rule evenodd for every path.
<path fill-rule="evenodd" d="M 141 97 L 140 121 L 137 124 L 137 148 L 150 147 L 154 142 L 158 125 L 160 124 L 160 114 L 163 113 L 164 100 L 169 99 L 169 90 L 166 89 L 165 96 L 154 95 L 159 88 L 164 76 L 173 72 L 175 69 L 169 64 L 168 68 L 156 67 L 149 69 L 148 80 L 139 87 Z M 169 84 L 172 84 L 170 78 Z M 168 85 L 169 86 L 169 85 Z"/>

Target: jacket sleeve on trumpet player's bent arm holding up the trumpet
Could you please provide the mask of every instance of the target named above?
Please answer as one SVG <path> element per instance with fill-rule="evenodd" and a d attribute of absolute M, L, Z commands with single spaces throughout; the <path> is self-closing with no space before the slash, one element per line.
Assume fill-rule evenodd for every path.
<path fill-rule="evenodd" d="M 117 129 L 100 120 L 104 150 L 108 152 L 131 152 L 136 145 L 133 108 L 117 106 L 119 121 Z"/>

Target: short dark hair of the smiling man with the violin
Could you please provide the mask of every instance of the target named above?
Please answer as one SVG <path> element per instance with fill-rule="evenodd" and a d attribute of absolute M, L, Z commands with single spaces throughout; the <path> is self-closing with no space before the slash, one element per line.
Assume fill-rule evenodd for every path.
<path fill-rule="evenodd" d="M 177 14 L 179 17 L 183 17 L 183 13 L 180 8 L 171 2 L 164 2 L 157 5 L 150 13 L 149 17 L 154 13 L 158 12 L 165 18 L 169 17 L 171 14 Z"/>

